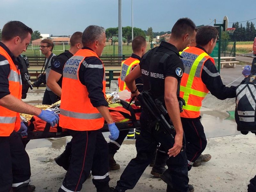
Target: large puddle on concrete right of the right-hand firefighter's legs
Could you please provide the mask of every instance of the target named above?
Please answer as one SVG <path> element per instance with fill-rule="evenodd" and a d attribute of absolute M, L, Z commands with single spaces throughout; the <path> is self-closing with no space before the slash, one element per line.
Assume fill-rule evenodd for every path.
<path fill-rule="evenodd" d="M 201 116 L 206 138 L 240 134 L 236 130 L 236 121 L 228 118 L 228 112 L 201 111 Z"/>

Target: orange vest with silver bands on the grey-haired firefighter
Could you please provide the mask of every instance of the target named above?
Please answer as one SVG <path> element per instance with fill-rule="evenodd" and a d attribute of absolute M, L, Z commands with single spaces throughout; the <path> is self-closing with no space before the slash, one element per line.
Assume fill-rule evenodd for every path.
<path fill-rule="evenodd" d="M 98 109 L 92 106 L 87 88 L 80 82 L 78 74 L 81 64 L 86 68 L 100 68 L 104 70 L 103 63 L 102 65 L 93 65 L 84 61 L 86 57 L 92 56 L 98 57 L 92 50 L 81 49 L 68 59 L 63 68 L 60 104 L 60 126 L 63 128 L 86 131 L 97 130 L 103 127 L 104 118 Z M 102 83 L 102 92 L 105 95 L 105 70 Z"/>

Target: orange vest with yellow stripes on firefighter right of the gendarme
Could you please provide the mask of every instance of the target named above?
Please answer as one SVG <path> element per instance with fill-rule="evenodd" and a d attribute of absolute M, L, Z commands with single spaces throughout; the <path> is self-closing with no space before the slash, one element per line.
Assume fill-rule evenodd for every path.
<path fill-rule="evenodd" d="M 196 118 L 200 116 L 202 100 L 209 92 L 201 79 L 204 62 L 210 59 L 214 63 L 214 59 L 204 50 L 196 47 L 184 50 L 181 56 L 183 57 L 181 60 L 184 65 L 184 73 L 180 83 L 180 97 L 185 100 L 186 106 L 183 106 L 180 116 Z"/>

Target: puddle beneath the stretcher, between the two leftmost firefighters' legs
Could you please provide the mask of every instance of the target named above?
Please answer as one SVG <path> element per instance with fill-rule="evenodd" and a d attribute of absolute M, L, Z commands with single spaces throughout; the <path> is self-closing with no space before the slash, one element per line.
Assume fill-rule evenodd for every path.
<path fill-rule="evenodd" d="M 71 140 L 71 137 L 61 137 L 57 140 L 47 139 L 32 139 L 28 142 L 26 149 L 35 149 L 40 147 L 49 147 L 53 149 L 60 149 Z"/>

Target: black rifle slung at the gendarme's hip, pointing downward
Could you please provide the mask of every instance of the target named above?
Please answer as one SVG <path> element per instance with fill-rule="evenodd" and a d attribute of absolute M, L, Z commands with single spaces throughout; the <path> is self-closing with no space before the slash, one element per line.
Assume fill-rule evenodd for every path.
<path fill-rule="evenodd" d="M 155 126 L 157 123 L 160 124 L 161 127 L 164 129 L 164 132 L 170 135 L 174 140 L 176 131 L 174 126 L 172 125 L 172 122 L 170 120 L 167 121 L 166 118 L 164 117 L 165 115 L 168 115 L 168 112 L 165 109 L 163 103 L 158 99 L 154 100 L 149 91 L 141 92 L 137 96 L 137 99 L 140 101 L 143 111 L 148 115 L 149 127 L 151 128 L 152 126 Z M 183 146 L 181 150 L 184 149 L 185 143 L 185 137 L 183 135 Z"/>

